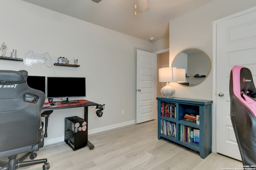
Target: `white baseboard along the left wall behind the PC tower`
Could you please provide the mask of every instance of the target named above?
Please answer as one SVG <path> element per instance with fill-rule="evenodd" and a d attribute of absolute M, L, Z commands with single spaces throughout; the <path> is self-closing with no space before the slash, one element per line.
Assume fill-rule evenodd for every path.
<path fill-rule="evenodd" d="M 122 127 L 122 126 L 132 125 L 132 124 L 135 124 L 135 123 L 136 123 L 136 120 L 131 120 L 131 121 L 126 121 L 126 122 L 122 122 L 122 123 L 117 123 L 117 124 L 114 124 L 114 125 L 108 125 L 108 126 L 104 126 L 104 127 L 90 129 L 90 130 L 88 130 L 88 135 L 98 133 L 98 132 L 107 131 L 107 130 L 110 130 L 110 129 L 115 129 L 115 128 Z M 60 142 L 64 142 L 64 136 L 56 137 L 56 138 L 53 138 L 53 139 L 45 139 L 44 140 L 44 146 L 52 145 L 54 143 L 60 143 Z"/>

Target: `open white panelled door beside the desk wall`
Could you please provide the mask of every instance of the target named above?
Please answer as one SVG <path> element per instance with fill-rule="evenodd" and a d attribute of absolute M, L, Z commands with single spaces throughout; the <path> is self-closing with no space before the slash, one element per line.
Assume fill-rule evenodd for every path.
<path fill-rule="evenodd" d="M 136 123 L 156 119 L 156 54 L 136 51 Z"/>

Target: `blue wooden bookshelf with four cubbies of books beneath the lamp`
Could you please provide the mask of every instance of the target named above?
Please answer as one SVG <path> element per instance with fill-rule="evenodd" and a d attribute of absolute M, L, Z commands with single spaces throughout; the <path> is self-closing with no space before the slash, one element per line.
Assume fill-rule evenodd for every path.
<path fill-rule="evenodd" d="M 165 138 L 200 153 L 201 158 L 206 158 L 212 152 L 212 101 L 187 98 L 156 98 L 158 100 L 158 139 Z M 169 104 L 175 104 L 175 117 L 166 116 L 170 110 Z M 196 113 L 200 117 L 199 125 L 195 122 L 183 120 L 186 113 Z M 168 114 L 167 114 L 168 115 Z M 166 131 L 171 131 L 168 125 L 176 125 L 175 136 Z M 200 141 L 193 143 L 184 135 L 184 128 L 199 129 Z M 182 134 L 181 134 L 181 128 Z M 167 130 L 168 129 L 168 130 Z M 187 131 L 186 131 L 186 134 Z M 181 140 L 182 137 L 182 140 Z M 186 138 L 186 139 L 184 139 Z"/>

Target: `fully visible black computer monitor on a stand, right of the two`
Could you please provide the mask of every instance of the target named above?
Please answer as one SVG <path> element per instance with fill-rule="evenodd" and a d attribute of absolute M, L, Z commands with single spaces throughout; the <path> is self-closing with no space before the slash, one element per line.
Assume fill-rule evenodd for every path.
<path fill-rule="evenodd" d="M 63 103 L 72 103 L 68 98 L 86 97 L 85 77 L 47 77 L 47 98 L 66 98 Z"/>

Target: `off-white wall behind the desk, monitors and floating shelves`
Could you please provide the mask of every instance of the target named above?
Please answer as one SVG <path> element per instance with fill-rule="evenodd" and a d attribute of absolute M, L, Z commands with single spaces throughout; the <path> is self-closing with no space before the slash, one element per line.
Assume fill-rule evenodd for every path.
<path fill-rule="evenodd" d="M 89 133 L 100 127 L 135 122 L 136 49 L 153 52 L 152 43 L 21 0 L 1 0 L 0 16 L 0 43 L 6 43 L 7 55 L 17 49 L 17 57 L 24 59 L 32 50 L 49 53 L 53 63 L 61 56 L 71 64 L 78 57 L 80 64 L 77 68 L 41 63 L 26 66 L 23 62 L 0 60 L 2 70 L 24 69 L 37 76 L 85 76 L 86 98 L 82 99 L 106 104 L 100 118 L 95 107 L 89 108 Z M 121 115 L 122 109 L 125 115 Z M 49 119 L 46 141 L 63 137 L 64 117 L 73 115 L 83 117 L 83 108 L 55 110 Z"/>

